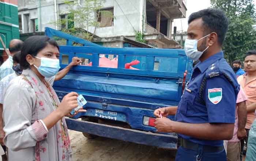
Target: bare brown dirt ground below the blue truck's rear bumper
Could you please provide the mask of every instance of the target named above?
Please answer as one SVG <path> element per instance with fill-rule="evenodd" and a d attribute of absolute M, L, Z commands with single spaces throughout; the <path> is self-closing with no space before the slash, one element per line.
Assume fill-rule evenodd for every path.
<path fill-rule="evenodd" d="M 174 150 L 138 145 L 108 138 L 87 139 L 69 130 L 73 161 L 174 161 Z"/>

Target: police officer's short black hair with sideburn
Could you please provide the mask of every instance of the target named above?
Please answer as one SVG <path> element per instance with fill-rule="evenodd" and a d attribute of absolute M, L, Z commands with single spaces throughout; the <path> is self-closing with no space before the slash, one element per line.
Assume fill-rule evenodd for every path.
<path fill-rule="evenodd" d="M 188 24 L 199 18 L 203 20 L 205 35 L 216 32 L 218 35 L 218 43 L 222 46 L 229 25 L 229 21 L 224 12 L 215 8 L 203 9 L 191 14 L 188 19 Z"/>

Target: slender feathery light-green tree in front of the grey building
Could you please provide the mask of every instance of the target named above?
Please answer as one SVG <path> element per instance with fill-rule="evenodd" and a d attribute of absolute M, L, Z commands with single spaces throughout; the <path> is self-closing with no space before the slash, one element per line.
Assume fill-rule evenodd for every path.
<path fill-rule="evenodd" d="M 69 4 L 69 16 L 68 20 L 75 22 L 75 25 L 68 29 L 64 29 L 64 32 L 75 35 L 77 37 L 92 41 L 96 29 L 100 26 L 98 22 L 99 16 L 105 16 L 106 18 L 113 19 L 113 13 L 110 11 L 102 10 L 103 4 L 106 0 L 81 0 L 80 4 L 78 0 L 65 1 Z M 60 22 L 62 24 L 63 22 Z M 89 27 L 93 27 L 94 31 L 91 33 Z M 85 29 L 85 30 L 84 30 Z"/>

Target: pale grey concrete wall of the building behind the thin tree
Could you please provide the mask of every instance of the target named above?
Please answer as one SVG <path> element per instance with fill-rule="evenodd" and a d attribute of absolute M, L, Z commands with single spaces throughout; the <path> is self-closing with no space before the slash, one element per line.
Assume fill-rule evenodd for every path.
<path fill-rule="evenodd" d="M 114 7 L 114 26 L 99 27 L 96 29 L 96 35 L 99 37 L 135 35 L 134 30 L 139 31 L 140 29 L 140 1 L 106 0 L 104 8 Z M 146 2 L 146 0 L 142 1 Z M 56 29 L 54 0 L 19 0 L 18 9 L 19 15 L 22 17 L 22 33 L 32 32 L 31 19 L 36 18 L 38 18 L 39 31 L 44 31 L 46 26 Z M 61 14 L 67 13 L 68 5 L 64 4 L 64 0 L 57 0 L 57 19 Z M 28 23 L 25 23 L 28 14 L 29 20 Z M 95 16 L 95 13 L 92 13 L 92 16 Z M 94 27 L 89 27 L 89 31 L 94 32 Z"/>

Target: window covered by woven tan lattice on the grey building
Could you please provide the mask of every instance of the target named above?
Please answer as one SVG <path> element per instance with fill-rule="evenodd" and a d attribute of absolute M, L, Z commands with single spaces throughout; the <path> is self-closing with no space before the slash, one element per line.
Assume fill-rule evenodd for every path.
<path fill-rule="evenodd" d="M 97 12 L 99 27 L 114 26 L 114 7 L 108 9 L 101 9 Z"/>

